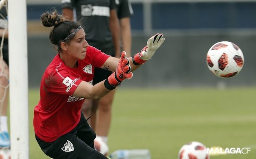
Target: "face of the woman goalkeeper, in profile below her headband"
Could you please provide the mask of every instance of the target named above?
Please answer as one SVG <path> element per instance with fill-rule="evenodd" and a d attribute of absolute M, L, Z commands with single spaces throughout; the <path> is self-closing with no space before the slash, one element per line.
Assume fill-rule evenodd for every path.
<path fill-rule="evenodd" d="M 76 60 L 83 60 L 86 55 L 86 48 L 89 46 L 85 40 L 84 29 L 81 28 L 76 32 L 75 37 L 70 40 L 70 44 L 67 48 L 68 54 L 70 57 L 73 57 Z"/>

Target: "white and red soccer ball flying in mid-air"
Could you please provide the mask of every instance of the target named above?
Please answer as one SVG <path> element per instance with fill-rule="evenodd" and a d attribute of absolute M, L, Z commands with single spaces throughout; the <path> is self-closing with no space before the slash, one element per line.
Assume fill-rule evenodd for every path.
<path fill-rule="evenodd" d="M 206 62 L 213 74 L 222 78 L 230 78 L 236 76 L 243 68 L 244 55 L 236 44 L 221 41 L 209 49 Z"/>

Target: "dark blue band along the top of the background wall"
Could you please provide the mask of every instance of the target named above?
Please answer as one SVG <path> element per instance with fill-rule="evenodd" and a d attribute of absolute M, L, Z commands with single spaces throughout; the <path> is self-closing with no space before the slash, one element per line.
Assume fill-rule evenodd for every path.
<path fill-rule="evenodd" d="M 132 3 L 133 30 L 143 30 L 143 3 Z M 49 9 L 60 4 L 28 5 L 28 20 L 40 20 Z M 151 3 L 152 29 L 256 28 L 256 2 Z"/>

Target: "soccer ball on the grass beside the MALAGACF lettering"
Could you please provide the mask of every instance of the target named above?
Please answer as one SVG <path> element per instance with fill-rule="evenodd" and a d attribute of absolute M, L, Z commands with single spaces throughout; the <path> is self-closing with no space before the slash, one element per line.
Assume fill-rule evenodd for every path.
<path fill-rule="evenodd" d="M 207 148 L 200 142 L 190 142 L 180 148 L 178 159 L 209 159 Z"/>

